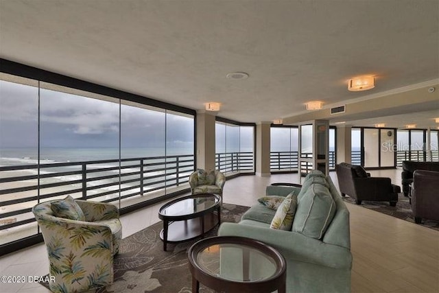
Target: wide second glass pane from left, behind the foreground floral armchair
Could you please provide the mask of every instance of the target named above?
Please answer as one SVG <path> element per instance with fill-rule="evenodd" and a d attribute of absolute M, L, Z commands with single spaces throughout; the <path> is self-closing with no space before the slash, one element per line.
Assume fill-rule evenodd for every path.
<path fill-rule="evenodd" d="M 40 172 L 50 176 L 40 180 L 40 194 L 118 199 L 119 99 L 96 99 L 74 89 L 41 86 Z M 54 183 L 59 186 L 45 187 Z"/>

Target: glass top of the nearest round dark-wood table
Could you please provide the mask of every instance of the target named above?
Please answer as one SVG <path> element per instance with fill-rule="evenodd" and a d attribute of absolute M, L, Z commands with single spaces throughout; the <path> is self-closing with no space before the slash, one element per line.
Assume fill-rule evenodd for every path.
<path fill-rule="evenodd" d="M 230 281 L 250 282 L 268 279 L 277 272 L 276 261 L 244 244 L 213 244 L 200 250 L 195 259 L 206 273 Z"/>

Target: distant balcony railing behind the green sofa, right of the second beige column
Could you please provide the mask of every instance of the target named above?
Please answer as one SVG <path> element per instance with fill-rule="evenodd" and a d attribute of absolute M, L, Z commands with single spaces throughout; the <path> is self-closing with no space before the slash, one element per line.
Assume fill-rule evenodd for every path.
<path fill-rule="evenodd" d="M 310 155 L 310 154 L 307 154 Z M 270 169 L 276 171 L 297 171 L 298 152 L 270 152 Z M 302 162 L 302 172 L 313 169 L 312 163 Z M 329 152 L 329 169 L 335 169 L 335 152 Z"/>

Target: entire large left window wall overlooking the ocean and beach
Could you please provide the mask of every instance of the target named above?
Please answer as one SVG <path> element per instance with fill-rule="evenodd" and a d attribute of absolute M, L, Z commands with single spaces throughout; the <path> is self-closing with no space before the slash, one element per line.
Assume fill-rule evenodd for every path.
<path fill-rule="evenodd" d="M 189 188 L 195 111 L 55 73 L 95 91 L 0 74 L 0 247 L 38 242 L 38 202 L 71 195 L 123 213 Z"/>

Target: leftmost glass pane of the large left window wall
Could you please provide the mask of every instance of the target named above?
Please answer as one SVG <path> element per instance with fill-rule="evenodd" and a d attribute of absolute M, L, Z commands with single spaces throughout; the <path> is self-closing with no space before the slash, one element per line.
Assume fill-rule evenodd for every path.
<path fill-rule="evenodd" d="M 1 195 L 1 202 L 20 200 L 6 204 L 0 213 L 0 245 L 38 233 L 34 215 L 26 211 L 38 203 L 38 82 L 12 75 L 0 78 L 0 190 L 32 187 L 29 191 L 11 190 Z M 23 165 L 31 165 L 25 167 Z M 10 171 L 2 167 L 16 167 Z M 33 176 L 23 179 L 23 176 Z M 17 226 L 21 221 L 32 222 Z"/>

